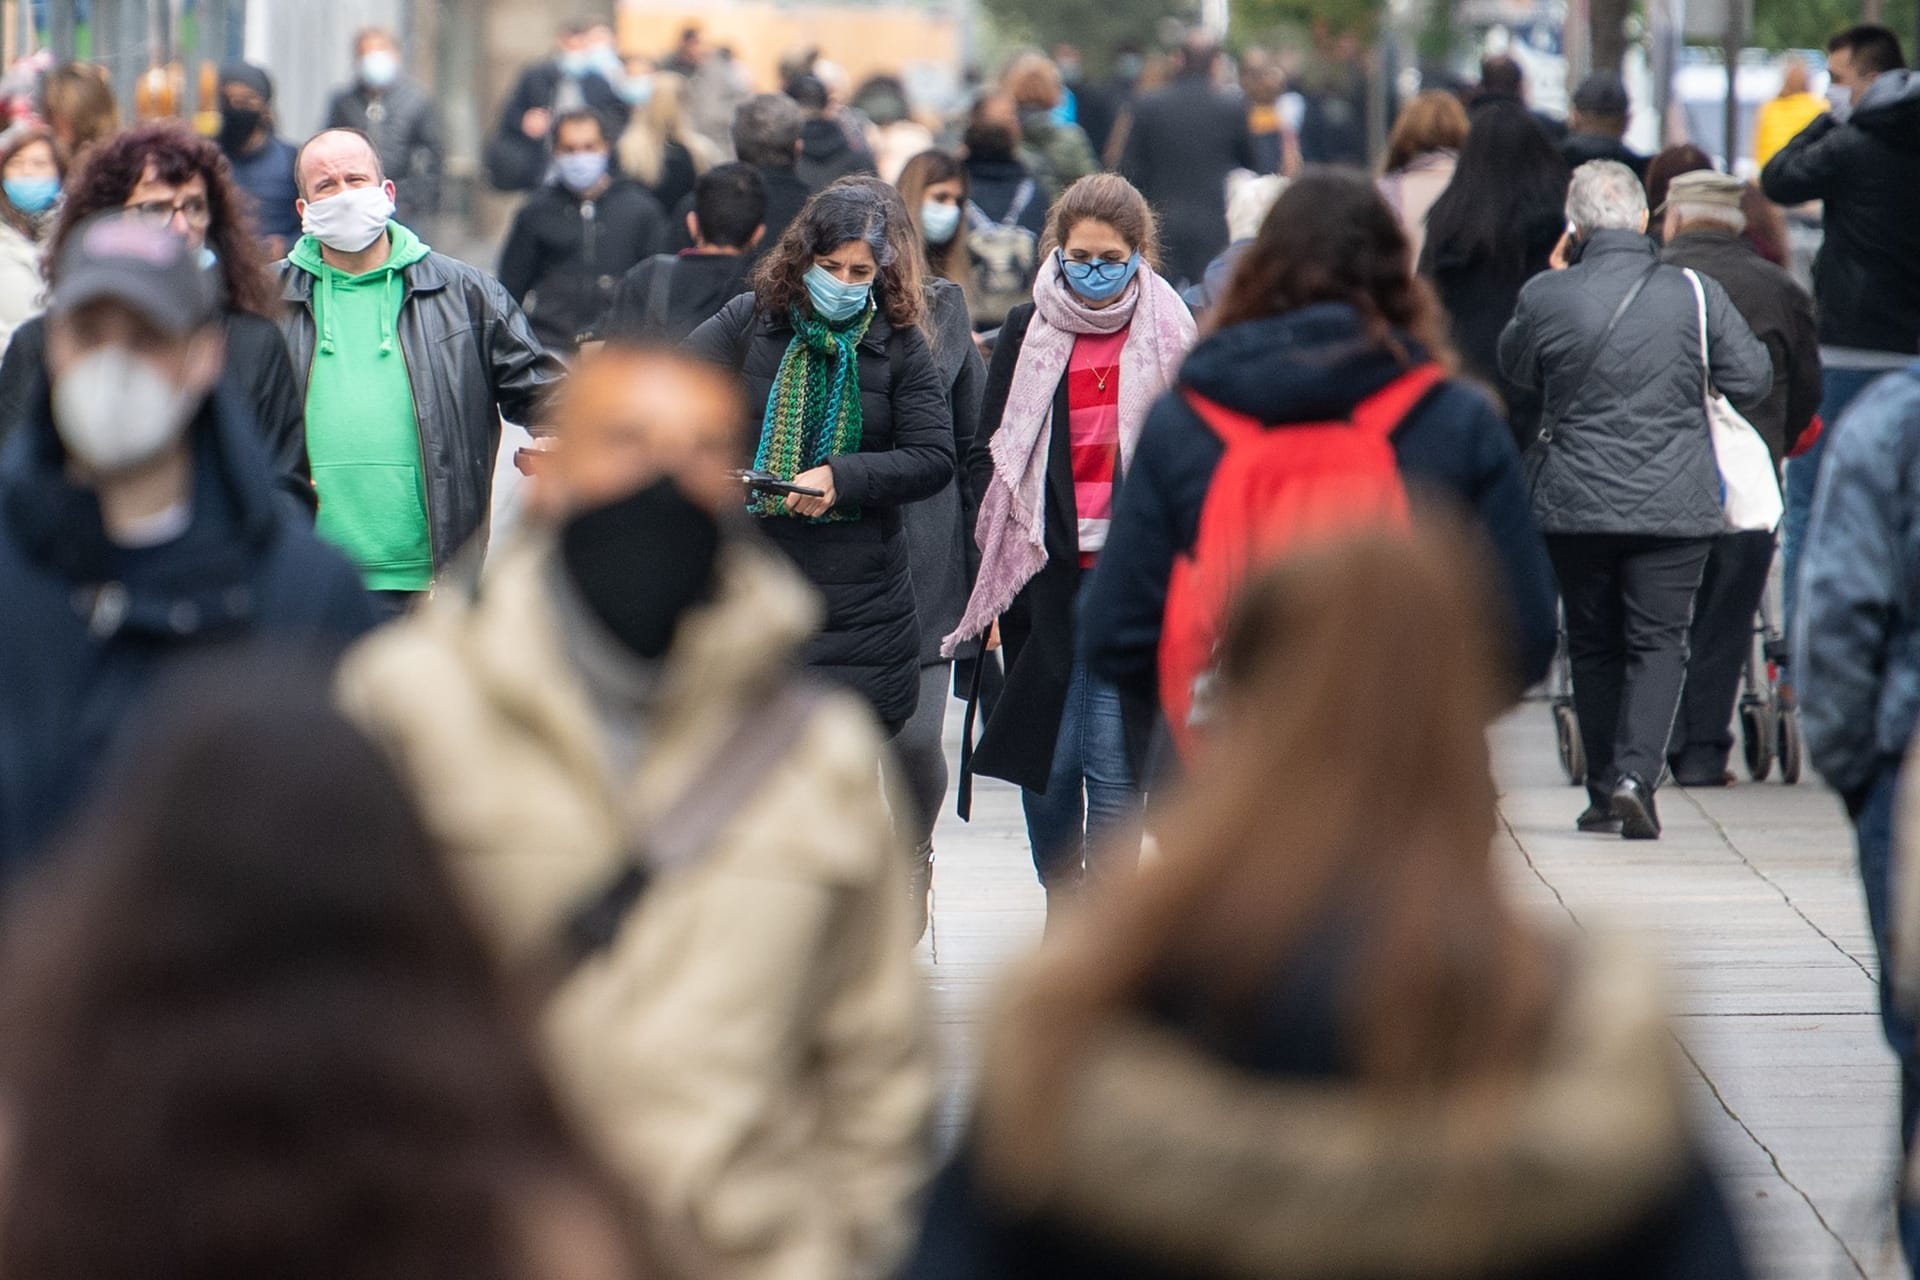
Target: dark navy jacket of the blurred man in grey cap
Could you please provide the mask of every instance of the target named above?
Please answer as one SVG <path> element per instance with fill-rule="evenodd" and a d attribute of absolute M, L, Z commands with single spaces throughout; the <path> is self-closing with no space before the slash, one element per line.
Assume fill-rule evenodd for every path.
<path fill-rule="evenodd" d="M 0 890 L 173 666 L 246 641 L 330 660 L 372 626 L 353 566 L 276 491 L 240 401 L 217 393 L 188 426 L 192 524 L 146 549 L 113 545 L 92 489 L 65 476 L 44 378 L 27 403 L 0 449 Z"/>

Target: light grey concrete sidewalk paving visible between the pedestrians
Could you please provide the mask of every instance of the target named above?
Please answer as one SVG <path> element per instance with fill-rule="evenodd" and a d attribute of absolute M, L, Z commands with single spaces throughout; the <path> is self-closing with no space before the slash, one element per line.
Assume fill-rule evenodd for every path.
<path fill-rule="evenodd" d="M 1891 1244 L 1893 1055 L 1837 800 L 1814 783 L 1665 791 L 1659 842 L 1578 835 L 1553 729 L 1528 704 L 1494 733 L 1515 892 L 1561 921 L 1644 929 L 1668 960 L 1674 1027 L 1709 1155 L 1759 1276 L 1903 1274 Z M 981 1000 L 1044 919 L 1020 796 L 981 781 L 939 831 L 925 954 L 964 1123 Z"/>

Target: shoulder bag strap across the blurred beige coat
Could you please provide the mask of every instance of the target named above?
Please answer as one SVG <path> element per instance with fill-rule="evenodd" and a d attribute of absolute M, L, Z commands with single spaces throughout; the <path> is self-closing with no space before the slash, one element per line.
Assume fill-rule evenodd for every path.
<path fill-rule="evenodd" d="M 822 691 L 806 681 L 783 689 L 764 708 L 749 708 L 714 750 L 693 785 L 628 850 L 614 873 L 582 898 L 561 925 L 545 958 L 545 990 L 599 956 L 626 925 L 655 875 L 699 862 L 768 773 L 795 748 L 820 708 Z"/>

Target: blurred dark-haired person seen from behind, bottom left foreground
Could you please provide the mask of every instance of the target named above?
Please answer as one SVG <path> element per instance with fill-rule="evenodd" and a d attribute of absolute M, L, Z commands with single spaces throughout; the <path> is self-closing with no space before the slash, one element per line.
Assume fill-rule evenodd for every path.
<path fill-rule="evenodd" d="M 219 676 L 12 904 L 0 1274 L 660 1274 L 374 748 Z"/>

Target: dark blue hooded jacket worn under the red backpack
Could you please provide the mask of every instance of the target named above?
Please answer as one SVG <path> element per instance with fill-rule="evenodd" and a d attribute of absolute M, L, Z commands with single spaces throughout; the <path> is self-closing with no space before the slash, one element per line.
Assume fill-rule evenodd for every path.
<path fill-rule="evenodd" d="M 1415 361 L 1419 344 L 1400 336 Z M 1334 422 L 1407 370 L 1371 338 L 1357 311 L 1319 303 L 1235 324 L 1206 338 L 1181 368 L 1181 388 L 1275 430 Z M 1484 393 L 1446 382 L 1392 438 L 1413 499 L 1452 499 L 1486 533 L 1507 601 L 1507 670 L 1515 687 L 1540 681 L 1553 660 L 1553 566 L 1534 528 L 1521 459 Z M 1154 405 L 1116 497 L 1106 551 L 1081 604 L 1087 666 L 1139 699 L 1158 699 L 1160 624 L 1173 558 L 1192 549 L 1223 445 L 1179 391 Z M 1417 676 L 1417 674 L 1409 674 Z"/>

